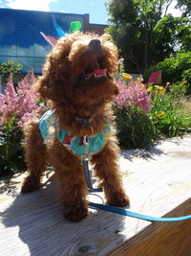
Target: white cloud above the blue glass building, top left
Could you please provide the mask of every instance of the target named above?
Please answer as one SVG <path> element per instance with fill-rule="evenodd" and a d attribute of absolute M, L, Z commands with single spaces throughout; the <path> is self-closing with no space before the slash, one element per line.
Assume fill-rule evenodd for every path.
<path fill-rule="evenodd" d="M 57 0 L 9 0 L 8 8 L 33 11 L 50 11 L 50 3 Z"/>

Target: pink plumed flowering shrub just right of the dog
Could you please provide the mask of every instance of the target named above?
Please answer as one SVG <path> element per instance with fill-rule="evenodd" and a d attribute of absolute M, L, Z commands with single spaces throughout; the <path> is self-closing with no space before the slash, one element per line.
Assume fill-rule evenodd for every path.
<path fill-rule="evenodd" d="M 152 122 L 146 115 L 152 108 L 151 93 L 129 74 L 117 78 L 119 94 L 116 98 L 117 137 L 121 148 L 148 148 L 153 142 Z"/>

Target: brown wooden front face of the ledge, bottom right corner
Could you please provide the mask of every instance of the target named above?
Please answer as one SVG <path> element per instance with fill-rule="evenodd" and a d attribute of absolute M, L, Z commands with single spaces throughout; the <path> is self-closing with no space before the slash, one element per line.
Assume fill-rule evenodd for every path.
<path fill-rule="evenodd" d="M 169 216 L 183 216 L 191 213 L 191 199 L 183 202 Z M 155 222 L 132 239 L 128 240 L 110 256 L 190 256 L 191 255 L 191 220 L 178 222 Z"/>

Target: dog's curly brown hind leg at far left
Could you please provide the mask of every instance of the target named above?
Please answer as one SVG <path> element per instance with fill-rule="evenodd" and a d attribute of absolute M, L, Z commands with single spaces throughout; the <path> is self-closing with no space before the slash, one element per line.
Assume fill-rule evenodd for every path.
<path fill-rule="evenodd" d="M 29 175 L 24 180 L 21 192 L 29 193 L 40 187 L 41 176 L 47 167 L 47 146 L 43 143 L 38 123 L 29 123 L 24 133 L 25 161 Z"/>

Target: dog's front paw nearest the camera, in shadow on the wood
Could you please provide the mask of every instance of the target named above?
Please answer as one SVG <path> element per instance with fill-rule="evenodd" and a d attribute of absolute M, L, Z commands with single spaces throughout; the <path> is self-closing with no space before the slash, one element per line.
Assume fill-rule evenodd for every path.
<path fill-rule="evenodd" d="M 73 210 L 64 210 L 64 216 L 67 220 L 77 222 L 81 221 L 88 215 L 88 207 L 87 206 L 80 206 L 78 208 L 74 208 Z"/>

